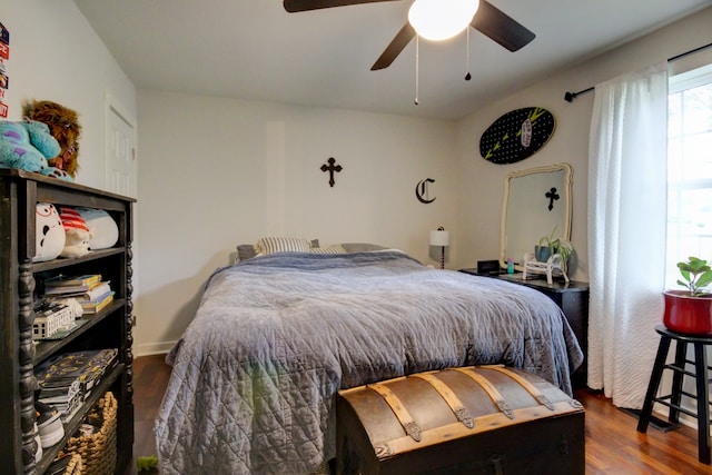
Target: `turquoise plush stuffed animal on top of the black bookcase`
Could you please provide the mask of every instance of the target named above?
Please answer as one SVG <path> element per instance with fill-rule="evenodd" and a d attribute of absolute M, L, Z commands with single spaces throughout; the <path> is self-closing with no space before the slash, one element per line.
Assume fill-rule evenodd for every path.
<path fill-rule="evenodd" d="M 0 167 L 34 171 L 55 178 L 71 179 L 49 166 L 48 159 L 60 152 L 59 142 L 46 123 L 36 120 L 0 121 Z"/>

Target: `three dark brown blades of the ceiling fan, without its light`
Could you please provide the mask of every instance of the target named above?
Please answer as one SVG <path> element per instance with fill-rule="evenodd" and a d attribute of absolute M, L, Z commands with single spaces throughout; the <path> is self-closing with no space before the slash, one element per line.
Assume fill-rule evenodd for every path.
<path fill-rule="evenodd" d="M 396 0 L 284 0 L 284 7 L 288 12 L 296 13 L 324 8 L 384 1 Z M 535 37 L 532 31 L 527 30 L 524 26 L 520 24 L 512 17 L 486 0 L 479 0 L 479 7 L 472 18 L 469 26 L 510 51 L 516 51 L 528 44 Z M 406 21 L 405 26 L 396 33 L 380 57 L 374 62 L 374 66 L 370 67 L 370 70 L 375 71 L 390 66 L 416 34 L 415 28 L 411 22 Z"/>

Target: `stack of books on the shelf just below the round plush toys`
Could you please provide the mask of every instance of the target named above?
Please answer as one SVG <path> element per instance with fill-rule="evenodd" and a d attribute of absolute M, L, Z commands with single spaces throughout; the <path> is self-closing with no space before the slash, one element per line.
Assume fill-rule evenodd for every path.
<path fill-rule="evenodd" d="M 108 280 L 99 274 L 66 277 L 57 276 L 44 280 L 44 298 L 75 298 L 85 314 L 92 315 L 113 301 L 113 290 Z"/>

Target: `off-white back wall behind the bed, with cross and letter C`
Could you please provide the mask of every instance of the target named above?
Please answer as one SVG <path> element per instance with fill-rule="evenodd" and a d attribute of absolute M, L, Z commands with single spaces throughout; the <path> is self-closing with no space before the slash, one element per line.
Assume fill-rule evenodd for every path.
<path fill-rule="evenodd" d="M 148 90 L 138 117 L 137 354 L 170 348 L 238 244 L 367 241 L 435 265 L 428 231 L 456 227 L 454 122 Z M 415 197 L 424 178 L 431 205 Z"/>

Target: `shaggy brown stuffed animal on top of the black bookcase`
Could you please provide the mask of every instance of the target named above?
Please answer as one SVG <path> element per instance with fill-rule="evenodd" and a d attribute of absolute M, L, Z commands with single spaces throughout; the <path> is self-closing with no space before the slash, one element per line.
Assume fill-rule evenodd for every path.
<path fill-rule="evenodd" d="M 79 170 L 79 138 L 81 137 L 81 125 L 77 112 L 50 100 L 38 100 L 24 106 L 24 117 L 49 126 L 50 133 L 61 147 L 61 151 L 52 157 L 49 164 L 76 178 Z"/>

